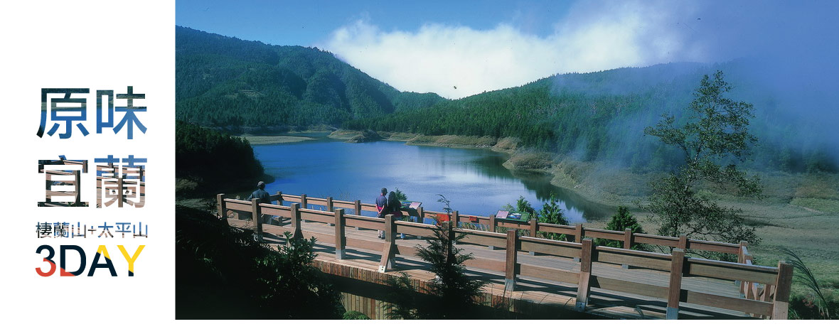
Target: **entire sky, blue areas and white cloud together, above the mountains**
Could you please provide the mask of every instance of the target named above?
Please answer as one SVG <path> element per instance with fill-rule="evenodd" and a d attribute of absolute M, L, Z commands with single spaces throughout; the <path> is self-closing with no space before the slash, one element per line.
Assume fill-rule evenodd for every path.
<path fill-rule="evenodd" d="M 825 74 L 839 57 L 837 13 L 827 0 L 180 0 L 175 21 L 317 46 L 401 91 L 460 98 L 553 74 L 743 57 L 839 86 L 839 74 Z"/>

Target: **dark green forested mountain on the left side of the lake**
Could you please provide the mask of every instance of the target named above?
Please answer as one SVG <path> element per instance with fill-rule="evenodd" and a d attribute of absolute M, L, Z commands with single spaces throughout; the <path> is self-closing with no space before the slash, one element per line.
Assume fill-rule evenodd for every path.
<path fill-rule="evenodd" d="M 326 51 L 175 28 L 180 120 L 210 127 L 340 125 L 429 107 L 433 93 L 400 92 Z"/>

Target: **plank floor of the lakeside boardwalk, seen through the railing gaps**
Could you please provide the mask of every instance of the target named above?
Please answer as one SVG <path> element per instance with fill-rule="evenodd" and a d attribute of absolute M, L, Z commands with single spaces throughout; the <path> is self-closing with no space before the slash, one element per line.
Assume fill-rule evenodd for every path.
<path fill-rule="evenodd" d="M 228 222 L 235 227 L 253 228 L 253 222 L 249 221 L 228 219 Z M 277 223 L 276 221 L 274 222 L 274 224 Z M 283 232 L 290 229 L 290 222 L 286 220 L 281 224 L 282 226 L 263 225 L 266 243 L 282 243 L 284 241 L 284 238 L 281 237 L 283 236 Z M 335 227 L 330 227 L 319 222 L 303 222 L 301 228 L 304 231 L 322 234 L 332 234 L 335 232 Z M 377 232 L 373 230 L 356 230 L 355 228 L 347 227 L 346 234 L 347 238 L 381 241 L 377 238 Z M 425 240 L 411 236 L 407 236 L 406 239 L 399 239 L 396 243 L 400 246 L 407 247 L 427 244 Z M 484 246 L 470 244 L 461 244 L 458 247 L 463 248 L 465 253 L 473 253 L 477 258 L 491 258 L 499 261 L 504 260 L 506 253 L 503 249 L 490 250 Z M 315 247 L 315 252 L 318 253 L 317 259 L 322 262 L 343 264 L 373 272 L 378 270 L 381 250 L 347 248 L 347 256 L 344 259 L 336 259 L 334 251 L 334 245 L 328 241 L 319 241 Z M 531 264 L 552 269 L 580 269 L 579 262 L 571 258 L 550 255 L 530 255 L 529 253 L 519 252 L 518 259 L 520 264 Z M 396 264 L 396 269 L 388 271 L 388 274 L 396 274 L 399 271 L 403 271 L 410 274 L 414 279 L 425 281 L 434 277 L 434 274 L 428 270 L 428 265 L 420 258 L 399 255 L 397 256 Z M 471 268 L 468 270 L 469 274 L 480 276 L 489 281 L 489 285 L 485 288 L 487 293 L 498 296 L 504 294 L 503 272 Z M 592 264 L 592 274 L 606 278 L 631 279 L 634 282 L 661 287 L 667 287 L 670 279 L 670 275 L 667 272 L 652 269 L 623 269 L 620 265 L 602 263 Z M 682 287 L 683 289 L 707 292 L 714 295 L 739 297 L 738 286 L 732 283 L 732 281 L 721 279 L 685 277 L 682 281 Z M 512 297 L 513 300 L 527 300 L 535 305 L 555 305 L 573 310 L 576 303 L 576 285 L 562 284 L 555 281 L 519 275 L 516 283 L 516 291 L 512 295 L 507 292 L 507 295 Z M 666 305 L 667 300 L 593 288 L 586 311 L 612 318 L 664 318 Z M 686 303 L 680 305 L 679 312 L 681 319 L 749 318 L 743 312 Z"/>

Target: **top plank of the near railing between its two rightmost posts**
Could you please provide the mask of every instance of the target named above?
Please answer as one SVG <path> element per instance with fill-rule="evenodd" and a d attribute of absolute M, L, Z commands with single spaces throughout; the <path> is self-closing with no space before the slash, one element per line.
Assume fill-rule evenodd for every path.
<path fill-rule="evenodd" d="M 764 285 L 773 285 L 778 275 L 777 269 L 767 266 L 697 258 L 688 258 L 687 271 L 685 273 L 714 279 L 758 282 Z"/>

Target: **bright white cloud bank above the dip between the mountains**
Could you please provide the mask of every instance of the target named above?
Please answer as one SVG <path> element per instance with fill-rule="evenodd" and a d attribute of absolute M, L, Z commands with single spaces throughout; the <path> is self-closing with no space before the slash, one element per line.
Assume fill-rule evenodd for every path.
<path fill-rule="evenodd" d="M 545 37 L 507 23 L 383 31 L 361 19 L 321 47 L 400 91 L 460 98 L 555 73 L 707 60 L 703 44 L 691 37 L 694 12 L 685 3 L 582 2 Z"/>

